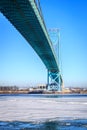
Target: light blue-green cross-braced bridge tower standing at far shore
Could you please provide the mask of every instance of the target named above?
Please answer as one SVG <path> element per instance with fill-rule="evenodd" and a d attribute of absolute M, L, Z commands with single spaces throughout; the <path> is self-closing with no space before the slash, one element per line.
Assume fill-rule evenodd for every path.
<path fill-rule="evenodd" d="M 49 29 L 49 36 L 51 39 L 51 42 L 53 44 L 56 57 L 58 60 L 58 65 L 60 67 L 60 32 L 58 28 Z M 56 70 L 47 70 L 47 86 L 48 90 L 50 91 L 61 91 L 62 90 L 62 82 L 61 82 L 61 76 L 60 76 L 60 68 L 59 71 Z"/>

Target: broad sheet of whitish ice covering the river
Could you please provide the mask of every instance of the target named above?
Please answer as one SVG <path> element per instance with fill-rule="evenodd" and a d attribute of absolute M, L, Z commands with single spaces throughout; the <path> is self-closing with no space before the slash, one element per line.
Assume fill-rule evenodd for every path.
<path fill-rule="evenodd" d="M 42 122 L 63 122 L 66 120 L 87 121 L 87 95 L 0 96 L 1 128 L 5 129 L 8 126 L 8 129 L 10 129 L 9 124 L 5 126 L 7 122 L 31 122 L 36 124 L 39 122 L 41 124 Z M 86 124 L 85 128 L 87 129 Z"/>

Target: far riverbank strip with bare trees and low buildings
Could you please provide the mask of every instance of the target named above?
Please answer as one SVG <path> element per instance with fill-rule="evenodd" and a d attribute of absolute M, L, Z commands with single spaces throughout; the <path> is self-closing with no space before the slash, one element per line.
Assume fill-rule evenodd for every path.
<path fill-rule="evenodd" d="M 47 90 L 45 87 L 19 88 L 0 86 L 0 94 L 87 94 L 87 88 L 63 88 L 62 91 Z"/>

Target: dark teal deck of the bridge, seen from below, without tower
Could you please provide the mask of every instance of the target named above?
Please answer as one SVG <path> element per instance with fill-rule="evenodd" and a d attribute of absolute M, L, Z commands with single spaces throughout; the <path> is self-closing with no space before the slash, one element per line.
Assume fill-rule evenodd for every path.
<path fill-rule="evenodd" d="M 1 0 L 0 10 L 37 52 L 47 69 L 58 71 L 53 46 L 45 36 L 35 3 L 28 0 Z"/>

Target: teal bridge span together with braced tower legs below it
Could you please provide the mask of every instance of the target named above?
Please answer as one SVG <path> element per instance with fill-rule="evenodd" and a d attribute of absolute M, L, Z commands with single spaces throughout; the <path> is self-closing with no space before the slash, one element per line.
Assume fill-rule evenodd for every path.
<path fill-rule="evenodd" d="M 0 12 L 32 46 L 47 68 L 47 88 L 62 90 L 58 59 L 35 0 L 0 0 Z"/>

